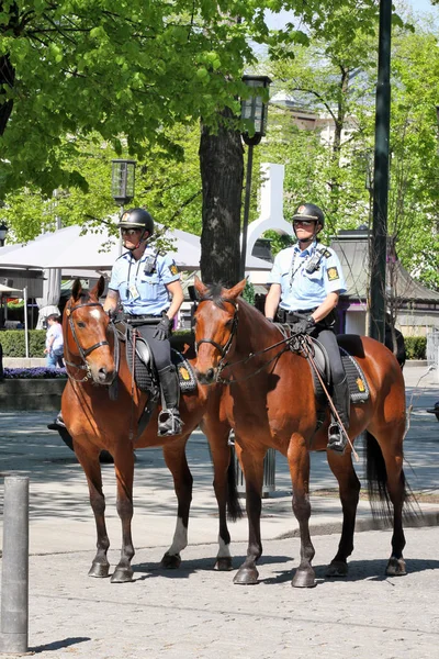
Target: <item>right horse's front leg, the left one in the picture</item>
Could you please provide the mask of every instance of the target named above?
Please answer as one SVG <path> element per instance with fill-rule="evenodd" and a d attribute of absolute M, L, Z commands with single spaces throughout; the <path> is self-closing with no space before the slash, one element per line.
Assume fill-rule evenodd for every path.
<path fill-rule="evenodd" d="M 236 448 L 237 447 L 237 448 Z M 234 583 L 252 585 L 258 583 L 259 572 L 256 568 L 257 560 L 262 555 L 260 534 L 260 515 L 262 510 L 262 483 L 264 449 L 252 455 L 246 448 L 235 448 L 246 479 L 246 511 L 248 518 L 248 547 L 247 557 L 235 574 Z"/>

